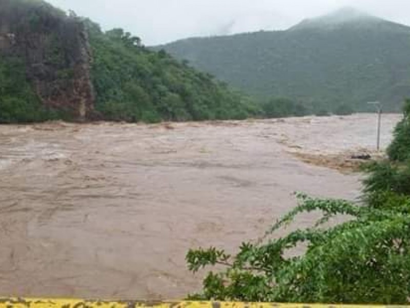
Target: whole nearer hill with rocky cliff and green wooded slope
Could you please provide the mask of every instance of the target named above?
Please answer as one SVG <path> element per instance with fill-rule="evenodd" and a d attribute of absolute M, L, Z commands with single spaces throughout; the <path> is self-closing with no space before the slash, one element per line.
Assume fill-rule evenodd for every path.
<path fill-rule="evenodd" d="M 243 119 L 257 108 L 207 73 L 41 0 L 0 0 L 0 123 Z"/>

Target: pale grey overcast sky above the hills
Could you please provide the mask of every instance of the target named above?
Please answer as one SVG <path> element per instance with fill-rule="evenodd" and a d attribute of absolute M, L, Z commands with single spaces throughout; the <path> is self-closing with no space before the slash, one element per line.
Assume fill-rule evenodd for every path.
<path fill-rule="evenodd" d="M 290 27 L 303 18 L 352 6 L 410 25 L 410 0 L 48 0 L 90 17 L 103 29 L 121 27 L 157 45 L 180 38 Z"/>

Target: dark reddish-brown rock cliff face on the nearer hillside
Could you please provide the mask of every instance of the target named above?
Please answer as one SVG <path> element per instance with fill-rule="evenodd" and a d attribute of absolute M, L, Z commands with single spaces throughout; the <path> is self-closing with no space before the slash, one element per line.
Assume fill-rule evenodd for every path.
<path fill-rule="evenodd" d="M 0 0 L 0 55 L 25 61 L 46 106 L 74 120 L 95 117 L 91 48 L 80 18 L 43 1 Z"/>

